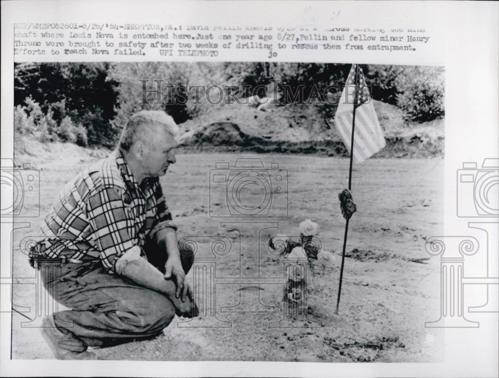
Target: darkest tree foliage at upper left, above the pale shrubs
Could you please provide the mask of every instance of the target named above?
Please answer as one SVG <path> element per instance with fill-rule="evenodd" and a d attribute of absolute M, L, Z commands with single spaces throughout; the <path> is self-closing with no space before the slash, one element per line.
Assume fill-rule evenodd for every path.
<path fill-rule="evenodd" d="M 86 129 L 89 144 L 109 146 L 116 134 L 110 120 L 115 116 L 117 94 L 114 83 L 107 80 L 108 67 L 108 63 L 101 62 L 16 63 L 14 105 L 27 106 L 25 110 L 30 113 L 25 99 L 31 98 L 47 119 L 60 125 L 69 117 L 74 125 L 81 124 Z M 50 131 L 48 134 L 51 135 Z M 84 140 L 81 138 L 81 143 Z"/>

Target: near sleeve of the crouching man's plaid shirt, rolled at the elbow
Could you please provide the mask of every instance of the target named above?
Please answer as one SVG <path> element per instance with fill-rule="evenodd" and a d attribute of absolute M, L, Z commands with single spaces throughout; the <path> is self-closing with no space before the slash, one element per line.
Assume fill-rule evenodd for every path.
<path fill-rule="evenodd" d="M 115 273 L 116 261 L 137 245 L 133 214 L 123 200 L 122 189 L 102 188 L 92 193 L 86 210 L 102 265 L 109 273 Z"/>

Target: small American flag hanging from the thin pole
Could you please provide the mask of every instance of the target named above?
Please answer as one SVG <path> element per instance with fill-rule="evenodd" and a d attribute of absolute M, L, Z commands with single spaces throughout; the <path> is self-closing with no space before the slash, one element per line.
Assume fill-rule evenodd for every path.
<path fill-rule="evenodd" d="M 336 114 L 334 124 L 340 133 L 346 148 L 352 153 L 350 143 L 352 141 L 353 108 L 355 106 L 355 136 L 353 145 L 353 160 L 361 163 L 376 152 L 385 147 L 385 137 L 379 125 L 378 117 L 374 111 L 372 98 L 367 88 L 366 80 L 359 67 L 359 95 L 355 104 L 355 65 L 352 64 L 345 88 L 341 93 L 341 100 Z"/>

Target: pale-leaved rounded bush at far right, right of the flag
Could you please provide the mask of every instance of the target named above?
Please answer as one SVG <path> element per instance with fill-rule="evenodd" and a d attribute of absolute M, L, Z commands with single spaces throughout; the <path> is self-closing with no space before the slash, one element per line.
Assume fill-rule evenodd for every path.
<path fill-rule="evenodd" d="M 396 77 L 397 105 L 406 121 L 425 122 L 445 115 L 444 68 L 404 67 Z"/>

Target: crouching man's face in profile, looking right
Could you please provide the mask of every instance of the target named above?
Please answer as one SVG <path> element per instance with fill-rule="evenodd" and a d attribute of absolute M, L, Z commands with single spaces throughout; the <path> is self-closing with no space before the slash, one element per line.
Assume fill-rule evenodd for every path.
<path fill-rule="evenodd" d="M 147 176 L 164 176 L 168 166 L 176 162 L 174 149 L 177 143 L 164 128 L 159 129 L 149 139 L 144 146 L 143 169 Z"/>

